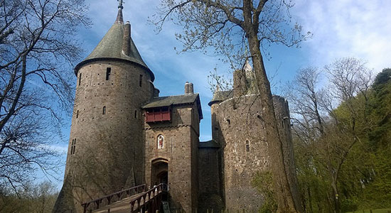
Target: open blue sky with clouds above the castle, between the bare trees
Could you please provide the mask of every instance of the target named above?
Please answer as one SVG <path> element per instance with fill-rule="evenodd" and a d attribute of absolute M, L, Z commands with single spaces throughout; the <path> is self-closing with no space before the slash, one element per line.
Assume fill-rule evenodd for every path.
<path fill-rule="evenodd" d="M 83 43 L 85 57 L 95 48 L 107 33 L 117 16 L 116 0 L 86 0 L 90 5 L 88 15 L 92 27 L 81 29 L 77 37 Z M 232 70 L 222 64 L 212 53 L 181 53 L 181 43 L 175 33 L 181 28 L 166 23 L 160 33 L 148 22 L 156 13 L 160 1 L 124 0 L 124 21 L 132 25 L 132 39 L 146 65 L 154 72 L 155 87 L 160 96 L 184 93 L 185 82 L 193 82 L 194 92 L 200 94 L 204 119 L 200 123 L 200 141 L 211 139 L 210 107 L 213 97 L 208 84 L 208 75 L 215 68 L 218 73 L 230 77 Z M 292 80 L 296 70 L 304 67 L 323 67 L 342 57 L 355 57 L 367 62 L 376 74 L 385 67 L 391 67 L 391 8 L 390 0 L 296 0 L 291 9 L 293 21 L 313 33 L 300 48 L 286 48 L 272 45 L 270 57 L 265 60 L 269 76 L 274 76 L 273 92 Z M 76 78 L 75 78 L 76 80 Z M 64 128 L 69 136 L 70 120 Z M 68 141 L 58 145 L 66 151 Z M 64 154 L 65 159 L 65 154 Z M 64 160 L 65 164 L 65 160 Z M 63 174 L 59 175 L 61 179 Z M 59 183 L 59 187 L 60 187 Z"/>

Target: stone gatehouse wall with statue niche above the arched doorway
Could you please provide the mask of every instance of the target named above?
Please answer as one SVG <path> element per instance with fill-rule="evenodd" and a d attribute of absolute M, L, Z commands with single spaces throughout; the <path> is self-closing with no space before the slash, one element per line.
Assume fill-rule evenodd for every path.
<path fill-rule="evenodd" d="M 156 162 L 163 160 L 168 166 L 170 207 L 195 212 L 198 202 L 198 108 L 196 104 L 174 106 L 171 122 L 145 124 L 146 183 L 159 183 Z M 164 136 L 164 148 L 158 148 L 157 138 Z"/>

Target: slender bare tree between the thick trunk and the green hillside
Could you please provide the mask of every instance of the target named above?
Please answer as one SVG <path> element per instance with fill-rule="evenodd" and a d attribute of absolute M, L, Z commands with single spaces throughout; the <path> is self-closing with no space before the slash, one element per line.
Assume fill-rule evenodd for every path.
<path fill-rule="evenodd" d="M 296 72 L 293 81 L 286 84 L 285 95 L 289 100 L 293 122 L 295 158 L 298 161 L 298 175 L 305 212 L 314 212 L 314 195 L 318 190 L 303 178 L 317 177 L 320 139 L 326 135 L 327 114 L 321 110 L 321 72 L 317 67 L 307 67 Z M 326 162 L 326 160 L 325 160 Z M 321 162 L 323 163 L 323 162 Z M 315 192 L 314 192 L 315 191 Z M 318 210 L 321 207 L 318 206 Z M 323 208 L 324 209 L 324 208 Z"/>

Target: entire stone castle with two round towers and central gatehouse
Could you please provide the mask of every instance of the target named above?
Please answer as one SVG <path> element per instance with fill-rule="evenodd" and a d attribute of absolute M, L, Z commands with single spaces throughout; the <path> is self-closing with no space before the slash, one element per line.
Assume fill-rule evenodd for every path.
<path fill-rule="evenodd" d="M 200 142 L 203 112 L 193 84 L 186 82 L 182 95 L 159 97 L 122 9 L 75 67 L 64 183 L 53 212 L 82 212 L 83 202 L 160 182 L 168 184 L 171 210 L 259 209 L 263 197 L 251 181 L 268 170 L 269 157 L 248 62 L 234 72 L 232 90 L 215 92 L 209 103 L 213 140 Z M 274 96 L 274 107 L 284 146 L 292 150 L 288 104 Z M 294 162 L 291 152 L 284 155 Z"/>

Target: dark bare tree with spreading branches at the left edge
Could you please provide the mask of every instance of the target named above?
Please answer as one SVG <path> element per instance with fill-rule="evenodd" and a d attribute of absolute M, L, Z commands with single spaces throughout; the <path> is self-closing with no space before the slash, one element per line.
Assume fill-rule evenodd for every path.
<path fill-rule="evenodd" d="M 72 109 L 86 10 L 84 0 L 0 0 L 0 184 L 16 192 L 37 166 L 55 166 L 47 144 Z"/>

